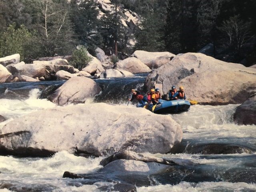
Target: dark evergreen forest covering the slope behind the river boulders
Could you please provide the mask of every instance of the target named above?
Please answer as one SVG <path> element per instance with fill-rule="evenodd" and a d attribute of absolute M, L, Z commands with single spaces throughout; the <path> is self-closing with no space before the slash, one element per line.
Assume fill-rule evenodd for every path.
<path fill-rule="evenodd" d="M 202 52 L 227 62 L 256 62 L 255 0 L 111 0 L 99 16 L 98 0 L 0 0 L 0 57 L 70 55 L 85 46 L 120 59 L 135 50 Z M 122 24 L 135 12 L 134 28 Z M 134 41 L 131 44 L 130 40 Z"/>

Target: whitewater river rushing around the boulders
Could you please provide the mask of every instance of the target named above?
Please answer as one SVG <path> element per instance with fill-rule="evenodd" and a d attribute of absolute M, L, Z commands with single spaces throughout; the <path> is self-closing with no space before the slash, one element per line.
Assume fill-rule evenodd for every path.
<path fill-rule="evenodd" d="M 142 90 L 144 80 L 145 76 L 96 80 L 102 92 L 86 103 L 127 105 L 130 90 Z M 0 84 L 0 115 L 7 119 L 0 123 L 0 129 L 20 116 L 56 107 L 47 100 L 47 95 L 63 83 Z M 234 124 L 233 114 L 237 106 L 193 105 L 188 112 L 167 114 L 182 126 L 182 142 L 176 153 L 150 155 L 191 160 L 199 166 L 193 169 L 193 177 L 189 178 L 186 171 L 180 170 L 175 177 L 171 177 L 170 173 L 168 177 L 162 176 L 161 180 L 153 177 L 151 186 L 138 186 L 137 191 L 256 192 L 256 125 Z M 102 168 L 100 161 L 103 158 L 84 158 L 66 151 L 48 158 L 0 156 L 0 191 L 109 191 L 102 190 L 102 186 L 111 186 L 111 182 L 84 185 L 82 179 L 62 178 L 65 171 L 85 174 L 98 170 Z"/>

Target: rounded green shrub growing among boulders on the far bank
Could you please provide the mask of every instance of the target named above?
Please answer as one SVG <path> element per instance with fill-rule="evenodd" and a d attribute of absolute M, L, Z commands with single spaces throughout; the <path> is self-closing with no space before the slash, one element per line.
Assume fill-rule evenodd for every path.
<path fill-rule="evenodd" d="M 74 66 L 74 68 L 82 70 L 82 68 L 86 67 L 90 61 L 92 61 L 92 57 L 89 56 L 86 47 L 80 45 L 74 50 L 70 64 Z"/>

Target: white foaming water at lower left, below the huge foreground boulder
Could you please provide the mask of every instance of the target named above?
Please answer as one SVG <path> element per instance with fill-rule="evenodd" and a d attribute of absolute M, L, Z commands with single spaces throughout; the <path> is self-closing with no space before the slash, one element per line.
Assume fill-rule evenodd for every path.
<path fill-rule="evenodd" d="M 99 169 L 102 158 L 84 158 L 61 151 L 51 158 L 14 158 L 0 156 L 0 180 L 59 186 L 65 171 L 89 173 Z M 64 182 L 65 183 L 65 182 Z M 63 186 L 63 183 L 60 185 Z"/>

